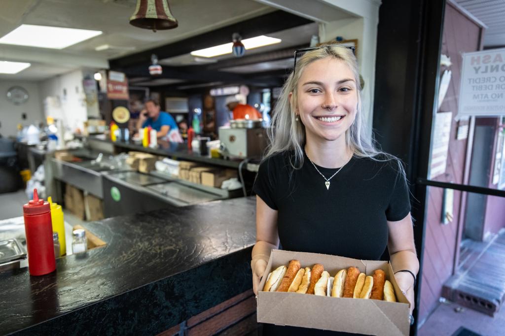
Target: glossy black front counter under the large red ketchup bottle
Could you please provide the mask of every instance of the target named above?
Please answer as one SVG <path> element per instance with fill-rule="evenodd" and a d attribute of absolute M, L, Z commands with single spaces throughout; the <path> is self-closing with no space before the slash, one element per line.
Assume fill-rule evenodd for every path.
<path fill-rule="evenodd" d="M 252 287 L 255 199 L 83 225 L 107 242 L 57 271 L 0 273 L 0 334 L 156 334 Z"/>

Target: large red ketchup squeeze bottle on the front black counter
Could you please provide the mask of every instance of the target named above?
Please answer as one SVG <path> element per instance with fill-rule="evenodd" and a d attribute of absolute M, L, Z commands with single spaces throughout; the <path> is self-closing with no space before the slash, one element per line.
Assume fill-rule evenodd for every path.
<path fill-rule="evenodd" d="M 23 216 L 30 274 L 51 273 L 56 269 L 51 208 L 38 198 L 37 189 L 33 190 L 33 200 L 23 205 Z"/>

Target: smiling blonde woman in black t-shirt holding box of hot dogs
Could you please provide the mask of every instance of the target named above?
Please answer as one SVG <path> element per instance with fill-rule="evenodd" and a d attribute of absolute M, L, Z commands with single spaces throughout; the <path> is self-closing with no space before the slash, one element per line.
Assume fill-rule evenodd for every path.
<path fill-rule="evenodd" d="M 378 260 L 387 246 L 412 313 L 419 261 L 405 172 L 365 131 L 353 50 L 322 45 L 295 57 L 272 122 L 272 145 L 254 187 L 255 293 L 279 243 L 285 250 L 368 260 Z M 264 325 L 265 334 L 311 331 L 323 334 Z"/>

